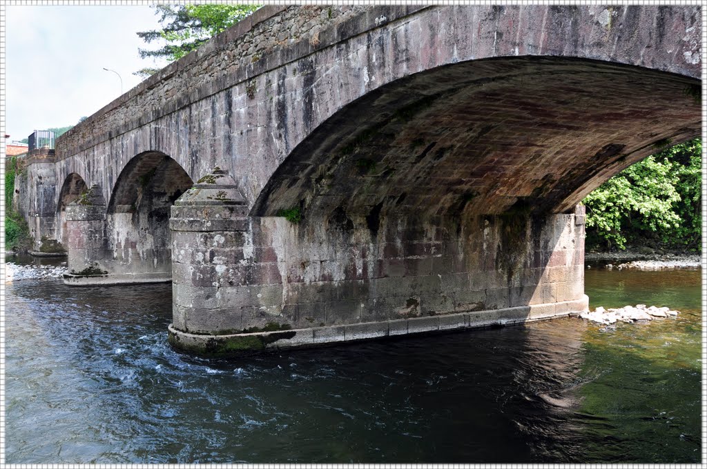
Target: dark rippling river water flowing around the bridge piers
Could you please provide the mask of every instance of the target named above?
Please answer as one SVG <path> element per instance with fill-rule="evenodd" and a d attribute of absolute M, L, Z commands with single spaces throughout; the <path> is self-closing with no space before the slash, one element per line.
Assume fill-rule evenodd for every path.
<path fill-rule="evenodd" d="M 170 349 L 169 285 L 6 287 L 7 463 L 697 463 L 700 271 L 586 271 L 558 319 L 247 360 Z"/>

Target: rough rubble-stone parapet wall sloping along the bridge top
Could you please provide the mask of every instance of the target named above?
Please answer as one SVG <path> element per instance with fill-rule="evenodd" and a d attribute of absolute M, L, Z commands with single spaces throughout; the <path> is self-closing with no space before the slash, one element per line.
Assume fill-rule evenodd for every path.
<path fill-rule="evenodd" d="M 388 20 L 416 8 L 387 8 Z M 293 59 L 328 45 L 320 32 L 339 28 L 370 6 L 266 6 L 136 88 L 100 109 L 57 139 L 57 159 L 69 158 L 177 109 L 204 100 Z M 395 15 L 391 15 L 396 13 Z M 332 33 L 329 31 L 329 36 Z M 333 39 L 333 38 L 332 38 Z"/>

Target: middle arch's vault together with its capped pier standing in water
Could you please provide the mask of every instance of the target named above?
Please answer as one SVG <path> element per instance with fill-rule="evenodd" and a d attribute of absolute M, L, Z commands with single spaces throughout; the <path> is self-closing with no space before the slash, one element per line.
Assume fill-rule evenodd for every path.
<path fill-rule="evenodd" d="M 170 208 L 192 178 L 173 158 L 151 150 L 127 161 L 105 202 L 100 186 L 69 206 L 66 283 L 148 283 L 172 275 Z"/>

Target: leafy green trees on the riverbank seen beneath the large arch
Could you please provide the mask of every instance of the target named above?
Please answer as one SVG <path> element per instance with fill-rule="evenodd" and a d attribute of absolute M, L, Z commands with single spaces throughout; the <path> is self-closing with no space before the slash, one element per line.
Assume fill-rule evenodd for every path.
<path fill-rule="evenodd" d="M 699 247 L 701 156 L 699 139 L 682 143 L 645 158 L 592 191 L 583 200 L 588 246 Z"/>

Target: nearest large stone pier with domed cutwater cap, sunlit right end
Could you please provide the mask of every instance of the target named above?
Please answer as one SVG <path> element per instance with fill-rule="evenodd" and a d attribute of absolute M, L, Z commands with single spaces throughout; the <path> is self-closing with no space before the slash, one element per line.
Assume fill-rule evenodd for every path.
<path fill-rule="evenodd" d="M 175 348 L 235 355 L 588 308 L 583 207 L 463 221 L 334 210 L 295 224 L 247 217 L 235 184 L 221 181 L 173 206 Z"/>

